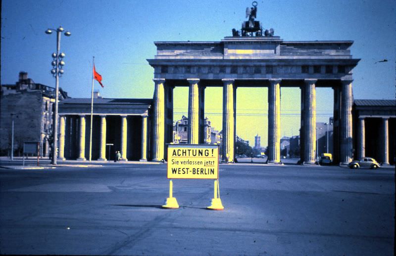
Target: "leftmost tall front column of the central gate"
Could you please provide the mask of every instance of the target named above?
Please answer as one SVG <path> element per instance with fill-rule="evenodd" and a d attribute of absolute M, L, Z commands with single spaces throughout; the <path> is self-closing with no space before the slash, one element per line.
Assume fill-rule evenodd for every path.
<path fill-rule="evenodd" d="M 165 136 L 165 79 L 154 79 L 154 120 L 153 120 L 153 148 L 152 160 L 161 161 L 164 158 Z"/>

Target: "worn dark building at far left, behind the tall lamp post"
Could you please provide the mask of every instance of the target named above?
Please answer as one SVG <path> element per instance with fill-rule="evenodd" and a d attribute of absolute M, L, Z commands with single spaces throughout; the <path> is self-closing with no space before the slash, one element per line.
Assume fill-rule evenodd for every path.
<path fill-rule="evenodd" d="M 35 83 L 28 73 L 20 72 L 14 85 L 1 85 L 0 153 L 10 155 L 12 121 L 14 155 L 21 155 L 23 142 L 40 142 L 40 156 L 48 157 L 52 143 L 52 117 L 55 88 Z M 67 98 L 59 88 L 59 100 Z"/>

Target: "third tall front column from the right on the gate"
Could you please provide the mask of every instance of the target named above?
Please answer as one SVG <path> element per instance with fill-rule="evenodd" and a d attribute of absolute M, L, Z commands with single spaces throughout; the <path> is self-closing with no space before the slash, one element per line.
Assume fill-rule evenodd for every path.
<path fill-rule="evenodd" d="M 281 163 L 281 80 L 270 79 L 268 88 L 268 164 Z"/>

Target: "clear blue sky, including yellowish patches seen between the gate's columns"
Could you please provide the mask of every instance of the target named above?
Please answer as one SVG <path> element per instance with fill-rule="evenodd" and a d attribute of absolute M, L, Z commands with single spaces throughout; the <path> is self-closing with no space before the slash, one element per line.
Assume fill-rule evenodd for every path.
<path fill-rule="evenodd" d="M 155 55 L 153 42 L 220 41 L 231 35 L 232 28 L 240 29 L 251 1 L 2 0 L 1 4 L 1 84 L 14 84 L 19 71 L 26 71 L 36 83 L 54 86 L 49 71 L 56 39 L 44 31 L 62 25 L 72 33 L 61 39 L 66 65 L 60 86 L 70 96 L 90 97 L 95 56 L 105 85 L 96 84 L 102 96 L 151 98 L 153 70 L 146 59 Z M 353 70 L 354 97 L 394 99 L 395 5 L 393 0 L 259 0 L 257 20 L 285 41 L 354 41 L 353 57 L 361 59 Z M 383 59 L 389 61 L 375 63 Z M 257 113 L 256 108 L 267 109 L 266 90 L 238 90 L 237 133 L 251 142 L 259 133 L 265 144 L 266 116 L 254 117 L 256 125 L 249 130 L 238 123 Z M 187 112 L 187 92 L 186 88 L 175 92 L 176 119 Z M 297 94 L 298 90 L 282 90 L 282 113 L 296 114 L 282 116 L 282 135 L 297 134 L 299 104 L 288 102 Z M 247 98 L 253 96 L 257 104 L 252 107 Z M 218 97 L 221 90 L 216 88 L 206 93 L 207 102 Z M 318 89 L 317 100 L 318 113 L 323 114 L 318 121 L 324 122 L 332 112 L 331 89 Z M 206 112 L 214 113 L 208 117 L 221 129 L 221 102 Z"/>

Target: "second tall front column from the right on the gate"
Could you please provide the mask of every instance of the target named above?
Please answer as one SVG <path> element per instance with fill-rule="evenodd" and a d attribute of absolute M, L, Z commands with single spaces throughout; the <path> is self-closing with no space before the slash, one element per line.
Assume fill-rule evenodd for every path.
<path fill-rule="evenodd" d="M 315 79 L 304 81 L 304 164 L 316 162 L 316 81 Z"/>

